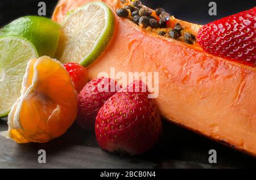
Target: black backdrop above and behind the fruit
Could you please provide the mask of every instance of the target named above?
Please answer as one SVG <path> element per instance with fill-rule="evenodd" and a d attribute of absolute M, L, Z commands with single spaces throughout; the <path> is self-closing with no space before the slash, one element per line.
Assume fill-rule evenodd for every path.
<path fill-rule="evenodd" d="M 47 16 L 51 17 L 57 0 L 0 0 L 0 26 L 23 15 L 37 15 L 38 2 L 46 2 Z M 217 3 L 217 16 L 208 14 L 209 2 Z M 171 15 L 189 22 L 205 24 L 215 19 L 250 9 L 253 0 L 142 0 L 152 8 L 164 7 Z"/>

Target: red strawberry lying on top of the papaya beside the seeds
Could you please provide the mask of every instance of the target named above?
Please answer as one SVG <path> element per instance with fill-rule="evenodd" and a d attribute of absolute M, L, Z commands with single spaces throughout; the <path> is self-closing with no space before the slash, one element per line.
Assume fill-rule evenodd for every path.
<path fill-rule="evenodd" d="M 201 27 L 197 41 L 205 52 L 256 64 L 256 7 L 216 20 Z"/>

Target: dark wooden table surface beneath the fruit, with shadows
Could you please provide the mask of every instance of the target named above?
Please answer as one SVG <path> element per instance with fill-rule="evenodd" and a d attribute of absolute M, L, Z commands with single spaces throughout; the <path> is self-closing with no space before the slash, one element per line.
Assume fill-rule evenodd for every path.
<path fill-rule="evenodd" d="M 6 120 L 0 120 L 0 132 L 6 129 Z M 39 149 L 46 150 L 46 164 L 38 163 Z M 217 164 L 208 162 L 210 149 L 217 151 Z M 121 156 L 101 150 L 94 133 L 74 123 L 44 144 L 17 144 L 1 136 L 0 168 L 256 168 L 256 159 L 168 122 L 149 152 Z"/>

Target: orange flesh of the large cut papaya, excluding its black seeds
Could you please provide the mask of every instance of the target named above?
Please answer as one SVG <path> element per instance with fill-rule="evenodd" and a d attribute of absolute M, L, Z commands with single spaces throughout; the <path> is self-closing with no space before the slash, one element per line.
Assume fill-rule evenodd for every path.
<path fill-rule="evenodd" d="M 90 0 L 60 0 L 52 19 Z M 104 0 L 115 12 L 120 0 Z M 194 35 L 201 27 L 171 18 Z M 256 156 L 256 68 L 205 53 L 197 44 L 158 36 L 115 16 L 112 40 L 88 67 L 89 77 L 115 72 L 159 72 L 160 114 L 168 121 Z"/>

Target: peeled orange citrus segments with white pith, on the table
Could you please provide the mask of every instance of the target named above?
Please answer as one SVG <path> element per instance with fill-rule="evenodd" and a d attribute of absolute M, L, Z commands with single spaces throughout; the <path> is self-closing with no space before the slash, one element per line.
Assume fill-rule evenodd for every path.
<path fill-rule="evenodd" d="M 17 143 L 44 143 L 63 135 L 77 114 L 77 93 L 64 66 L 47 56 L 30 60 L 19 99 L 2 134 Z"/>

